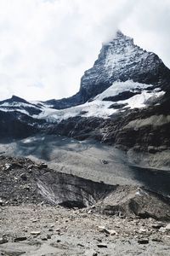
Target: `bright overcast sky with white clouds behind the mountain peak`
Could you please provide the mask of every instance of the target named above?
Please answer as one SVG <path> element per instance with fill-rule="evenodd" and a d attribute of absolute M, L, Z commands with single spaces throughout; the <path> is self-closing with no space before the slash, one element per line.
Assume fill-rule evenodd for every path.
<path fill-rule="evenodd" d="M 170 67 L 170 0 L 0 0 L 0 99 L 71 96 L 117 29 Z"/>

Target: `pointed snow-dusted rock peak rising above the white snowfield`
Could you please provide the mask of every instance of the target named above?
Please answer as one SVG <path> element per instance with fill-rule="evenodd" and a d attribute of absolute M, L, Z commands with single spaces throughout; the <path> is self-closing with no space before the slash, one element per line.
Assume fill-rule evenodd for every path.
<path fill-rule="evenodd" d="M 116 38 L 102 45 L 94 67 L 82 76 L 80 92 L 86 101 L 103 92 L 113 82 L 129 79 L 165 87 L 170 79 L 170 71 L 156 54 L 141 49 L 133 44 L 133 38 L 118 31 Z"/>

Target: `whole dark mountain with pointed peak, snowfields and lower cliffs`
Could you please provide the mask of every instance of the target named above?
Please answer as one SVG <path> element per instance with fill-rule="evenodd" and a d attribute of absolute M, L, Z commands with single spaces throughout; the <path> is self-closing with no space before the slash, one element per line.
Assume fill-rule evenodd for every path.
<path fill-rule="evenodd" d="M 3 137 L 45 132 L 91 137 L 135 152 L 169 152 L 169 103 L 170 70 L 118 31 L 103 44 L 75 96 L 47 102 L 13 96 L 0 102 L 0 131 Z M 5 129 L 11 125 L 15 129 Z"/>

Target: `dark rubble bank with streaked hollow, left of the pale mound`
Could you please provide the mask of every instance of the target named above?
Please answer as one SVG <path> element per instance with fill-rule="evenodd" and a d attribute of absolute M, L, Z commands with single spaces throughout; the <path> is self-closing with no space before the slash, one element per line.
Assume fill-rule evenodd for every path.
<path fill-rule="evenodd" d="M 49 169 L 26 158 L 0 157 L 0 197 L 4 205 L 45 201 L 65 207 L 88 207 L 116 186 Z"/>

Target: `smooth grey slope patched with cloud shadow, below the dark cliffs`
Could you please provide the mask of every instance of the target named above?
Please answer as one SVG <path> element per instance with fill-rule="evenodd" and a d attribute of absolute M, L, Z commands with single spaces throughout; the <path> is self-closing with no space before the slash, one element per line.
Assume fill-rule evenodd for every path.
<path fill-rule="evenodd" d="M 70 137 L 38 135 L 23 140 L 0 142 L 0 154 L 23 156 L 31 160 L 45 161 L 57 172 L 65 172 L 110 184 L 142 185 L 170 195 L 170 168 L 149 168 L 145 154 L 126 154 L 118 148 L 96 141 L 77 141 Z M 130 155 L 130 156 L 129 156 Z M 162 166 L 165 155 L 151 154 L 152 164 Z M 154 159 L 153 159 L 154 158 Z M 142 165 L 138 166 L 143 160 Z M 162 161 L 162 163 L 161 163 Z M 154 166 L 154 164 L 153 164 Z"/>

